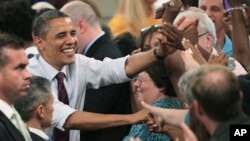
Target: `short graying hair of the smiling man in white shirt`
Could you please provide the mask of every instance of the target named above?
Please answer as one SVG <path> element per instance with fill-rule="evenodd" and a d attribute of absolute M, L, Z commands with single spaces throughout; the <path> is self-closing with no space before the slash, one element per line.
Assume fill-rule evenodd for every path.
<path fill-rule="evenodd" d="M 68 15 L 55 9 L 45 11 L 34 19 L 32 24 L 33 35 L 45 39 L 48 33 L 50 20 L 66 17 L 68 17 Z"/>

